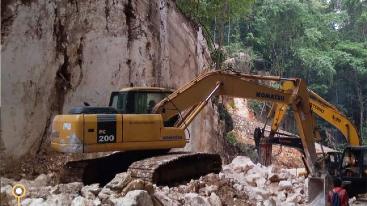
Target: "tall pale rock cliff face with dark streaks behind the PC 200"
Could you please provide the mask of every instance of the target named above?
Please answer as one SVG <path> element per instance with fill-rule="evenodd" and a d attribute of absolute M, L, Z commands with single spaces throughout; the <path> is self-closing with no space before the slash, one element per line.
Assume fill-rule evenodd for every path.
<path fill-rule="evenodd" d="M 1 37 L 3 166 L 47 146 L 54 115 L 106 105 L 130 82 L 177 89 L 211 62 L 172 0 L 1 1 Z M 222 150 L 216 111 L 192 123 L 185 150 Z"/>

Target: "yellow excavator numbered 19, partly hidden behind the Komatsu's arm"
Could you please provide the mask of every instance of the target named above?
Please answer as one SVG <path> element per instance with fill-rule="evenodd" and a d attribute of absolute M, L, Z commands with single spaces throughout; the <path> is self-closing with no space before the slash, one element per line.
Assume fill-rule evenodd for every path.
<path fill-rule="evenodd" d="M 287 82 L 285 82 L 282 86 L 282 89 L 284 90 L 292 88 L 293 86 Z M 345 136 L 349 145 L 344 149 L 342 153 L 338 151 L 324 152 L 321 145 L 321 135 L 317 130 L 316 121 L 312 115 L 313 128 L 317 137 L 317 141 L 319 141 L 322 150 L 322 152 L 318 155 L 319 157 L 325 156 L 325 169 L 328 171 L 331 177 L 341 177 L 343 182 L 346 183 L 345 188 L 348 190 L 350 198 L 357 194 L 366 193 L 367 148 L 360 145 L 361 140 L 355 125 L 333 104 L 327 102 L 325 99 L 321 98 L 319 95 L 311 90 L 308 90 L 308 93 L 311 97 L 316 99 L 313 100 L 309 98 L 312 112 L 316 113 L 321 118 L 325 119 L 327 122 L 338 128 L 340 132 Z M 270 114 L 273 113 L 274 110 L 275 114 L 269 136 L 275 134 L 281 120 L 284 117 L 284 114 L 286 113 L 287 105 L 273 103 L 268 114 L 268 118 L 271 117 Z M 273 139 L 273 142 L 276 144 L 281 144 L 281 141 L 281 138 Z M 286 143 L 286 146 L 295 147 L 303 152 L 303 147 L 300 146 L 299 141 L 299 138 L 292 138 L 291 141 L 288 142 L 284 142 L 283 139 L 283 143 Z"/>

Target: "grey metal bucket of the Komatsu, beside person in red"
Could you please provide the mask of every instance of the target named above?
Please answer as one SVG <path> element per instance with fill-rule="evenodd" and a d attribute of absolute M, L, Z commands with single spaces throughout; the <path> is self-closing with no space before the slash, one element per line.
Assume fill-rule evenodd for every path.
<path fill-rule="evenodd" d="M 320 177 L 308 177 L 308 202 L 309 206 L 327 205 L 327 195 L 333 190 L 333 179 L 329 174 Z"/>

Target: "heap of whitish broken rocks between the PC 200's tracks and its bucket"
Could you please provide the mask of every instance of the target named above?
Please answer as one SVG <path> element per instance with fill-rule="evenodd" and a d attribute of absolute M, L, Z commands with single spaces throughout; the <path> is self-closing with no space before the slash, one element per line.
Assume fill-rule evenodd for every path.
<path fill-rule="evenodd" d="M 306 205 L 307 179 L 291 175 L 276 165 L 254 164 L 247 157 L 238 156 L 224 165 L 219 177 L 230 179 L 233 187 L 244 191 L 257 206 Z"/>

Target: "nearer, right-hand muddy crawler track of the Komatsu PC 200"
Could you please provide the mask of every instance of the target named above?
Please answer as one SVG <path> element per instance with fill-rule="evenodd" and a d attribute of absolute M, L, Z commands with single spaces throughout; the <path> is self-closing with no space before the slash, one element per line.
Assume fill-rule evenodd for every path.
<path fill-rule="evenodd" d="M 198 178 L 208 173 L 219 173 L 222 160 L 218 154 L 172 152 L 132 163 L 128 169 L 136 178 L 157 185 Z"/>

